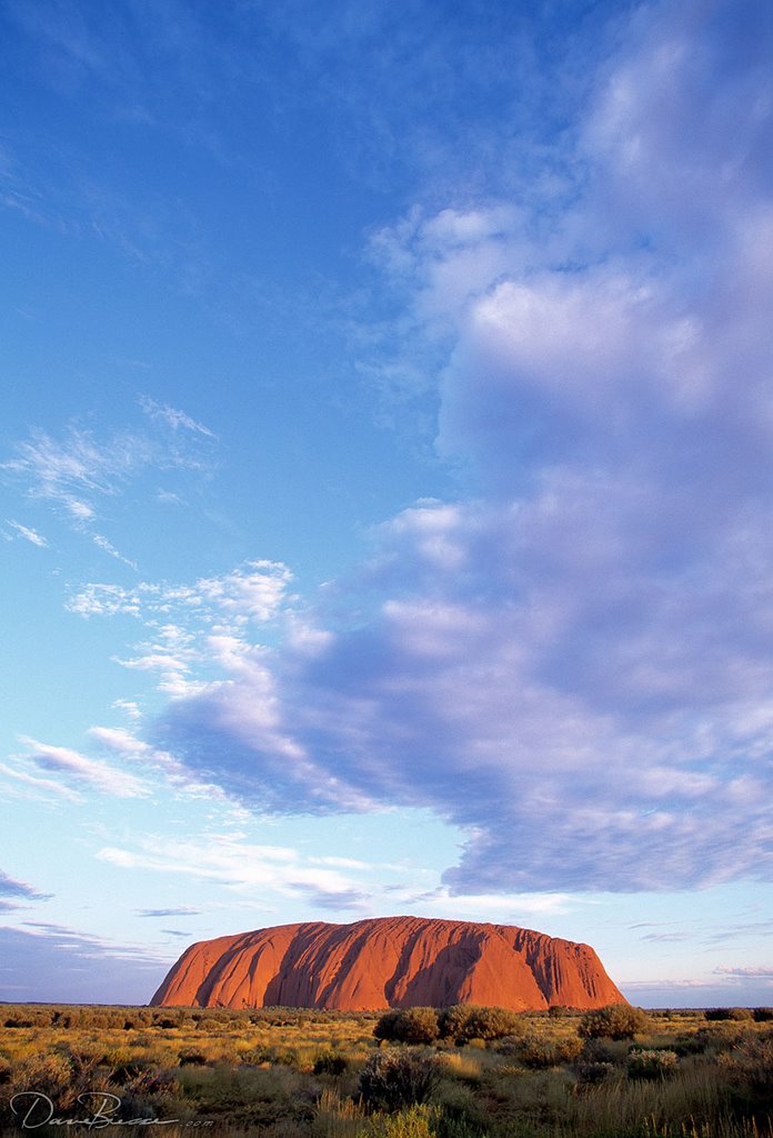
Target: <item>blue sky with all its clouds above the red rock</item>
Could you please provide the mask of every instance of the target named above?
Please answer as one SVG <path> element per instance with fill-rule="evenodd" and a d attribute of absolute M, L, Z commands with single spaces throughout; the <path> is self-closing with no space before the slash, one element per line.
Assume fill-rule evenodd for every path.
<path fill-rule="evenodd" d="M 415 914 L 773 1003 L 772 52 L 0 2 L 0 999 Z"/>

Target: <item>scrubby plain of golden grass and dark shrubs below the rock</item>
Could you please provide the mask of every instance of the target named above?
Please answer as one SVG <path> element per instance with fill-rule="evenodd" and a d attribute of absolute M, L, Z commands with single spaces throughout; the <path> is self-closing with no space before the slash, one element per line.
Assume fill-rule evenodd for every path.
<path fill-rule="evenodd" d="M 772 1102 L 767 1008 L 0 1005 L 2 1133 L 773 1138 Z"/>

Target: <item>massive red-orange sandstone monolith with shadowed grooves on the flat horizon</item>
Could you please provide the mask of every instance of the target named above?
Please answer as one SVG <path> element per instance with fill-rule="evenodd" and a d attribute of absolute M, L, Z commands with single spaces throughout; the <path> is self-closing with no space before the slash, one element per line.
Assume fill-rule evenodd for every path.
<path fill-rule="evenodd" d="M 191 945 L 151 1004 L 375 1011 L 624 1004 L 592 948 L 514 925 L 379 917 Z"/>

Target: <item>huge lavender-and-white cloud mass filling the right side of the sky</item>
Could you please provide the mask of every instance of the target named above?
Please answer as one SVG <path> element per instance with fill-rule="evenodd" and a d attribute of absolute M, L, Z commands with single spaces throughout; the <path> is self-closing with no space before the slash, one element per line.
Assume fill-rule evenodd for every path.
<path fill-rule="evenodd" d="M 165 747 L 261 808 L 431 806 L 457 892 L 770 877 L 773 84 L 732 24 L 634 17 L 547 224 L 377 234 L 479 497 L 382 527 L 310 658 L 214 640 Z"/>

